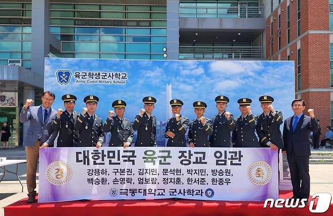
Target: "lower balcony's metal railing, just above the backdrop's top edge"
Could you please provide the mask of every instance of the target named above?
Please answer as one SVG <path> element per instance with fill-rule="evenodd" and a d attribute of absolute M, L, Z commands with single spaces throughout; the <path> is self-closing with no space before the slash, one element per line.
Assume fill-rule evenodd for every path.
<path fill-rule="evenodd" d="M 228 58 L 228 59 L 262 59 L 263 47 L 212 47 L 180 46 L 179 59 L 193 58 Z"/>

